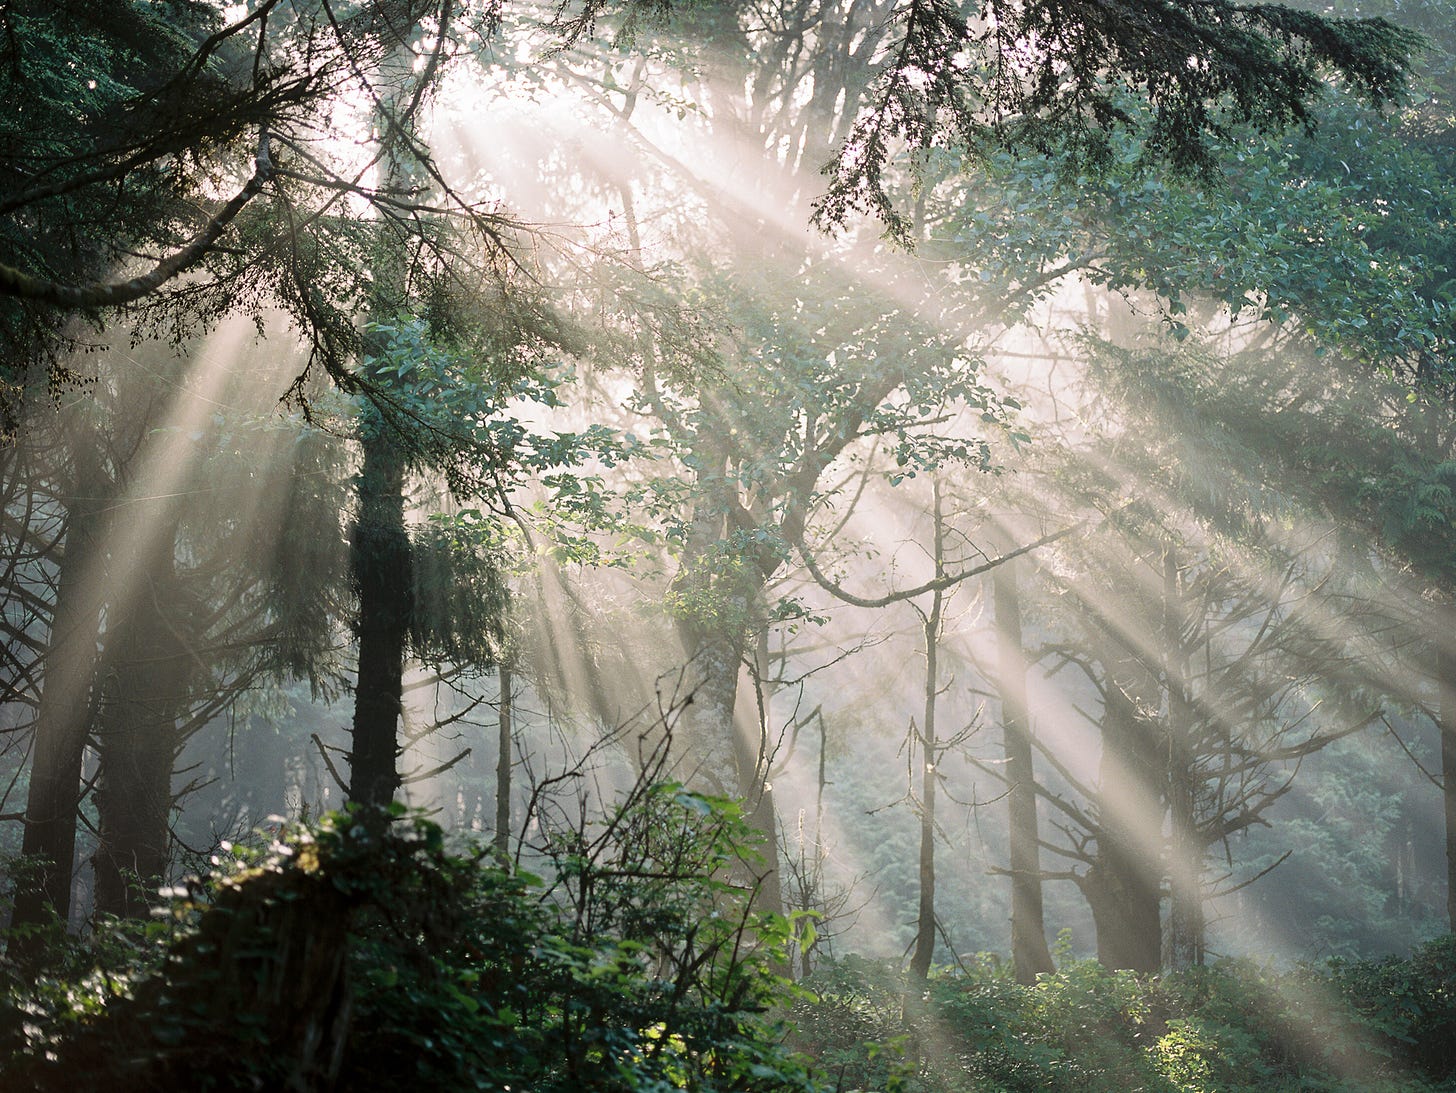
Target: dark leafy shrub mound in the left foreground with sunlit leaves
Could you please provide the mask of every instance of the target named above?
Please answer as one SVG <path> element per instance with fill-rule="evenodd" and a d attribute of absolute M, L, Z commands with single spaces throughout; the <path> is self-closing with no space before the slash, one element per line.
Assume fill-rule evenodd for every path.
<path fill-rule="evenodd" d="M 10 968 L 0 1087 L 807 1093 L 770 1013 L 794 924 L 750 910 L 745 841 L 673 784 L 562 832 L 549 879 L 418 815 L 331 815 Z"/>

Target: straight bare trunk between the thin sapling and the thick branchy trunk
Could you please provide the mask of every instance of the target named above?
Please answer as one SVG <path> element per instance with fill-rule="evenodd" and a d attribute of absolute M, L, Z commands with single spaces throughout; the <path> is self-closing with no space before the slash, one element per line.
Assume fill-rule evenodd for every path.
<path fill-rule="evenodd" d="M 1009 540 L 1008 540 L 1009 543 Z M 1010 952 L 1016 982 L 1054 971 L 1041 904 L 1041 844 L 1037 830 L 1037 771 L 1026 706 L 1026 655 L 1021 635 L 1016 559 L 992 571 L 996 613 L 996 687 L 1006 755 L 1008 865 L 1010 866 Z"/>

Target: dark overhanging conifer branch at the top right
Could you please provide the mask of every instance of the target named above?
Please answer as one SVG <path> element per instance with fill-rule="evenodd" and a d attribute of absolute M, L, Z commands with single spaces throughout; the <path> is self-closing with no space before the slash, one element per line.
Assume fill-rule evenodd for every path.
<path fill-rule="evenodd" d="M 903 243 L 911 223 L 888 195 L 884 167 L 903 137 L 925 151 L 948 135 L 978 154 L 1053 148 L 1104 167 L 1112 137 L 1139 132 L 1142 157 L 1184 173 L 1216 173 L 1213 137 L 1252 122 L 1309 124 L 1325 73 L 1388 102 L 1404 84 L 1398 60 L 1420 41 L 1385 20 L 1344 20 L 1275 4 L 1079 0 L 980 7 L 977 23 L 948 0 L 897 6 L 900 38 L 830 167 L 826 224 L 872 210 Z M 990 28 L 978 29 L 980 20 Z M 1150 109 L 1139 116 L 1127 98 Z"/>

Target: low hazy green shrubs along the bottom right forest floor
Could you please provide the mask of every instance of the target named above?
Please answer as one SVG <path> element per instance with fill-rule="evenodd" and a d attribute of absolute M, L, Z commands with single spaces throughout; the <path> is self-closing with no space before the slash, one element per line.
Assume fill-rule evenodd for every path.
<path fill-rule="evenodd" d="M 1456 1089 L 1456 937 L 1408 959 L 1160 977 L 1083 961 L 1034 985 L 981 958 L 906 995 L 849 958 L 795 1044 L 842 1089 L 903 1093 L 1415 1093 Z"/>

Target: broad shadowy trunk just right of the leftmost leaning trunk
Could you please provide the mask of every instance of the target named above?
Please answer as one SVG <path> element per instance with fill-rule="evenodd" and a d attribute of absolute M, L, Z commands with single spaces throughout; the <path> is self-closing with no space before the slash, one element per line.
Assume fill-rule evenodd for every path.
<path fill-rule="evenodd" d="M 147 915 L 166 873 L 176 723 L 192 678 L 176 525 L 147 540 L 144 556 L 122 566 L 134 576 L 108 608 L 115 629 L 106 635 L 96 729 L 96 910 L 131 918 Z"/>

